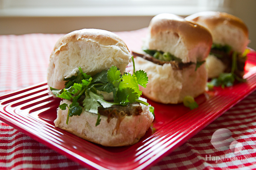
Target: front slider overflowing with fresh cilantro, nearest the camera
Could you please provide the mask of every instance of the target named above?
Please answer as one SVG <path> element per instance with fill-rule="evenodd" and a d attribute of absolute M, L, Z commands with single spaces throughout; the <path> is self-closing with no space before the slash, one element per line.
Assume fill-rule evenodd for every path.
<path fill-rule="evenodd" d="M 48 68 L 50 90 L 63 99 L 55 126 L 104 146 L 138 142 L 154 116 L 140 98 L 145 72 L 124 73 L 130 59 L 125 43 L 109 31 L 82 29 L 61 37 Z"/>

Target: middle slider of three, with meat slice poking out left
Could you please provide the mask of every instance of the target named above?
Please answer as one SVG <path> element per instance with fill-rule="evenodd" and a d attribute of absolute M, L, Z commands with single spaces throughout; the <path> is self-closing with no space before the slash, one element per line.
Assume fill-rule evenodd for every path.
<path fill-rule="evenodd" d="M 185 96 L 204 93 L 207 84 L 205 58 L 212 37 L 209 31 L 174 14 L 159 14 L 148 26 L 144 51 L 136 68 L 148 74 L 143 95 L 156 102 L 180 103 Z"/>

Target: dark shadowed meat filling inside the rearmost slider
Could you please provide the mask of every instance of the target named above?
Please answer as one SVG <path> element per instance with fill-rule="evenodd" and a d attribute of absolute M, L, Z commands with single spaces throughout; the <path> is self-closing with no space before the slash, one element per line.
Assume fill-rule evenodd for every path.
<path fill-rule="evenodd" d="M 224 71 L 225 73 L 230 73 L 231 72 L 231 68 L 232 68 L 232 54 L 233 52 L 230 53 L 226 53 L 224 51 L 220 51 L 218 49 L 211 49 L 210 54 L 215 55 L 218 59 L 221 60 L 221 62 L 224 63 L 224 65 L 226 66 L 226 70 Z M 239 78 L 243 78 L 244 76 L 244 65 L 245 65 L 245 61 L 246 61 L 246 57 L 242 57 L 241 54 L 239 54 L 236 57 L 236 70 L 234 72 L 234 74 L 236 74 Z"/>

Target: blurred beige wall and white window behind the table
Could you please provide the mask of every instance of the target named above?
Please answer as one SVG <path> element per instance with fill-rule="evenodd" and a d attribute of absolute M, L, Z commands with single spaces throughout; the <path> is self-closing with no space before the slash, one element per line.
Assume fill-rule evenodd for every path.
<path fill-rule="evenodd" d="M 67 34 L 82 28 L 131 31 L 160 13 L 186 17 L 199 11 L 233 14 L 249 28 L 256 49 L 256 0 L 0 0 L 0 34 Z"/>

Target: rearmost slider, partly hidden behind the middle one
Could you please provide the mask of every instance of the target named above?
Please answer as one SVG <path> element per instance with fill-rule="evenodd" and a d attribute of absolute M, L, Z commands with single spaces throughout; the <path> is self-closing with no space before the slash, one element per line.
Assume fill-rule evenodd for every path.
<path fill-rule="evenodd" d="M 213 11 L 199 12 L 185 19 L 207 27 L 212 34 L 212 49 L 206 59 L 209 78 L 232 72 L 232 63 L 236 63 L 234 74 L 242 78 L 246 60 L 242 54 L 249 43 L 244 22 L 233 15 Z"/>

